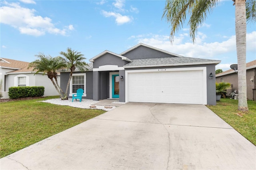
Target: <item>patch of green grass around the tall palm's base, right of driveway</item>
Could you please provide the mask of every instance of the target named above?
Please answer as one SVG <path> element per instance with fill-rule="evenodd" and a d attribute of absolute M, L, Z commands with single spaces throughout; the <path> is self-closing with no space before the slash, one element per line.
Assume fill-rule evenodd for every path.
<path fill-rule="evenodd" d="M 207 107 L 256 146 L 255 101 L 248 101 L 248 112 L 238 111 L 238 101 L 229 98 L 222 98 L 216 106 Z"/>

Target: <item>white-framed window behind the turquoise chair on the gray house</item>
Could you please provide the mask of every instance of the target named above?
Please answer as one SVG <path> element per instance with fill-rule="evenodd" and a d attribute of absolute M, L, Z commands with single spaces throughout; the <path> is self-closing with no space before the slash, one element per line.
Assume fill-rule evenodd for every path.
<path fill-rule="evenodd" d="M 70 80 L 70 96 L 75 94 L 78 89 L 83 89 L 83 96 L 86 96 L 86 73 L 77 73 L 72 75 Z"/>

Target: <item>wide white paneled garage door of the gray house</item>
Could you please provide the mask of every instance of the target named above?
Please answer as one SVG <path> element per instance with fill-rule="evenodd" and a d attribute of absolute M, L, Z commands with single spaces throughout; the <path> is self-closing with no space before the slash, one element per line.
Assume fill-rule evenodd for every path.
<path fill-rule="evenodd" d="M 201 68 L 201 67 L 200 67 Z M 186 68 L 188 69 L 188 68 Z M 127 71 L 127 102 L 206 104 L 206 69 Z"/>

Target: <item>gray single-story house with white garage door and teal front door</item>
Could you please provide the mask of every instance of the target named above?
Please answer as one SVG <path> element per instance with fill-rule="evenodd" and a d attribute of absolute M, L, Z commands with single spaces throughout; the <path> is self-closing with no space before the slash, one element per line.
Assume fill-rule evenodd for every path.
<path fill-rule="evenodd" d="M 218 60 L 183 57 L 140 43 L 120 54 L 103 51 L 89 60 L 89 71 L 74 72 L 70 94 L 84 89 L 86 99 L 120 102 L 216 105 Z M 61 72 L 65 88 L 70 72 Z"/>

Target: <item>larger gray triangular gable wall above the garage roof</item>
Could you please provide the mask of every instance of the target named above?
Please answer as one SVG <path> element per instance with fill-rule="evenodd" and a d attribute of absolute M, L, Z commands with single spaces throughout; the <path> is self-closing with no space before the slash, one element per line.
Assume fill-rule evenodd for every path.
<path fill-rule="evenodd" d="M 139 46 L 132 51 L 124 54 L 123 56 L 128 59 L 144 59 L 144 58 L 161 58 L 161 57 L 174 57 L 173 55 L 157 51 L 145 46 Z"/>

